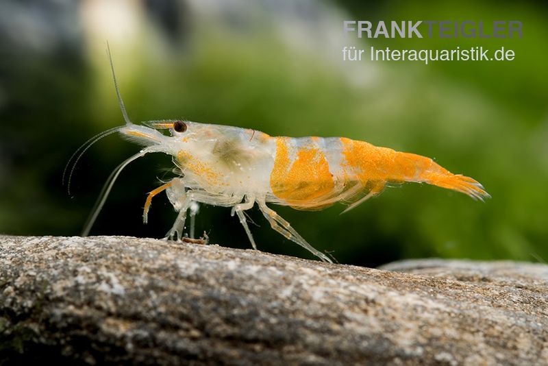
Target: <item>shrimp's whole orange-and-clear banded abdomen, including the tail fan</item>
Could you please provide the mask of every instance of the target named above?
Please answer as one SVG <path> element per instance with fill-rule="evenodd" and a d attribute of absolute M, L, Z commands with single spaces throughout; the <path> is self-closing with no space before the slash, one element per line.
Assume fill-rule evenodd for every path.
<path fill-rule="evenodd" d="M 453 174 L 425 156 L 376 147 L 349 138 L 276 137 L 271 202 L 300 210 L 319 210 L 336 202 L 347 210 L 379 195 L 386 184 L 425 182 L 490 197 L 482 184 Z"/>

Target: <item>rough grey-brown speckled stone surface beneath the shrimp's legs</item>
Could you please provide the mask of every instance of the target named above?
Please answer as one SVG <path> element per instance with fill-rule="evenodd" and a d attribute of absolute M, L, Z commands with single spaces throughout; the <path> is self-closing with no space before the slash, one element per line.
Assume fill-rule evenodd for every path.
<path fill-rule="evenodd" d="M 548 363 L 548 266 L 0 236 L 0 362 Z"/>

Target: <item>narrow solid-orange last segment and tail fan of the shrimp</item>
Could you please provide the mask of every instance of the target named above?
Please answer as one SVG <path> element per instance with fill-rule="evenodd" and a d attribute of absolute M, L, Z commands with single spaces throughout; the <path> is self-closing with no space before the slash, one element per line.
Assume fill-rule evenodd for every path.
<path fill-rule="evenodd" d="M 465 175 L 453 174 L 436 164 L 434 160 L 416 154 L 397 152 L 395 177 L 405 182 L 425 182 L 434 186 L 452 189 L 483 201 L 491 196 L 479 182 Z"/>

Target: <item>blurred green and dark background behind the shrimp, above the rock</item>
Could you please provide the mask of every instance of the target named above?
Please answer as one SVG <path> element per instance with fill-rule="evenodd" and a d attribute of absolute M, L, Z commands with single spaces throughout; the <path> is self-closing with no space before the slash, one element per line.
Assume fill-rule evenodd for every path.
<path fill-rule="evenodd" d="M 110 171 L 139 147 L 113 135 L 62 171 L 88 138 L 121 125 L 108 40 L 132 121 L 188 119 L 272 136 L 346 136 L 435 158 L 482 182 L 486 203 L 428 185 L 387 188 L 355 210 L 276 207 L 341 263 L 443 258 L 548 260 L 548 30 L 543 2 L 3 1 L 0 232 L 77 235 Z M 518 20 L 523 38 L 345 38 L 344 20 Z M 345 45 L 504 46 L 507 62 L 343 62 Z M 160 238 L 175 212 L 147 192 L 171 159 L 122 173 L 91 234 Z M 260 249 L 312 258 L 249 212 Z M 229 209 L 201 206 L 197 232 L 249 247 Z"/>

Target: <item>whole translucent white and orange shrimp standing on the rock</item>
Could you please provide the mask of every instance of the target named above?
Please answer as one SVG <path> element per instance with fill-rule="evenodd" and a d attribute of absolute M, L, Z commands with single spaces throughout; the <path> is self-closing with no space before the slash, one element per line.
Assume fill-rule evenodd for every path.
<path fill-rule="evenodd" d="M 149 193 L 143 210 L 143 222 L 147 223 L 153 197 L 165 191 L 177 212 L 166 239 L 181 241 L 188 210 L 197 204 L 208 204 L 232 208 L 231 215 L 238 217 L 251 246 L 257 249 L 244 215 L 257 205 L 273 230 L 330 263 L 332 260 L 327 255 L 314 249 L 267 204 L 321 210 L 340 202 L 348 205 L 343 211 L 346 212 L 382 193 L 387 184 L 403 182 L 424 182 L 481 201 L 490 197 L 476 180 L 453 174 L 430 158 L 376 147 L 364 141 L 342 137 L 269 136 L 246 128 L 182 120 L 162 119 L 136 125 L 127 117 L 110 50 L 108 55 L 125 120 L 125 125 L 109 130 L 108 134 L 119 132 L 143 148 L 112 172 L 84 236 L 122 169 L 150 153 L 171 155 L 178 173 L 176 178 Z M 165 131 L 169 133 L 162 133 Z M 90 141 L 94 143 L 97 138 Z M 193 212 L 191 210 L 191 215 Z"/>

